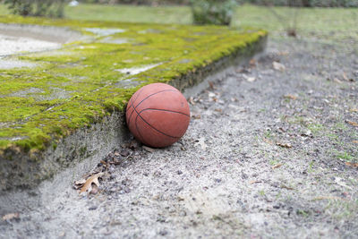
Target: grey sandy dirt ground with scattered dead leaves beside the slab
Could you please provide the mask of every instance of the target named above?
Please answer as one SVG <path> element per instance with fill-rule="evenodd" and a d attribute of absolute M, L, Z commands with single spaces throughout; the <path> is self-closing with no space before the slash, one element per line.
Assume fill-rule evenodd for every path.
<path fill-rule="evenodd" d="M 354 48 L 271 40 L 190 99 L 181 141 L 118 147 L 96 194 L 40 195 L 0 237 L 356 238 L 357 78 Z"/>

